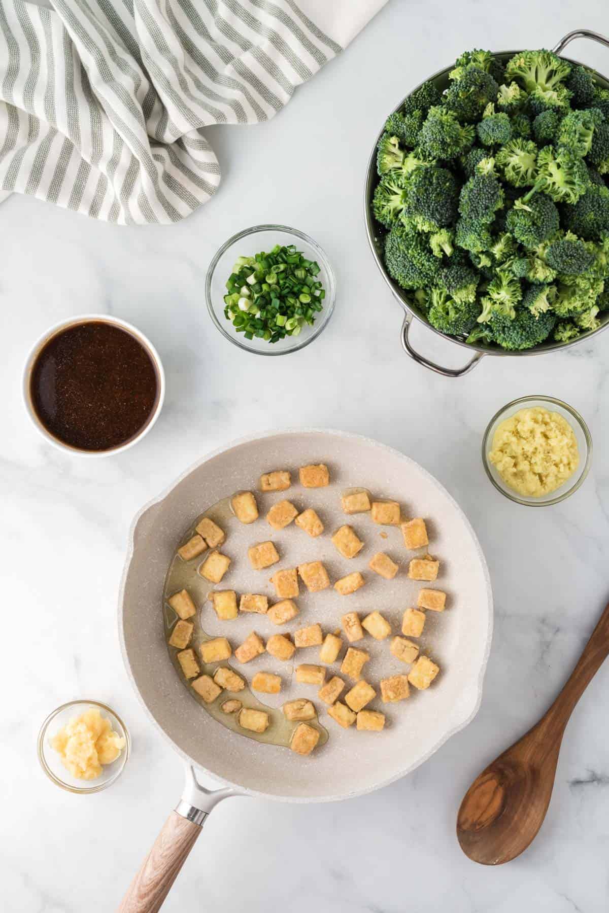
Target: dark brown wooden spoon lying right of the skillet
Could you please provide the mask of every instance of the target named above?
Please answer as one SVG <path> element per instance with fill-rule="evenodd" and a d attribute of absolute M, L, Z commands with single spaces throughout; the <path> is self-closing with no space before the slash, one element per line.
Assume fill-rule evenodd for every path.
<path fill-rule="evenodd" d="M 467 790 L 457 815 L 457 840 L 474 862 L 499 866 L 535 838 L 550 805 L 564 729 L 607 654 L 609 605 L 551 708 Z"/>

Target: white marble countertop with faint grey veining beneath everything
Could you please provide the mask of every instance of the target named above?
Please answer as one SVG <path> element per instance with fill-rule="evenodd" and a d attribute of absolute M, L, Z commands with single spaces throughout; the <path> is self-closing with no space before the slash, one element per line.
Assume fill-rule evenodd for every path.
<path fill-rule="evenodd" d="M 181 225 L 118 229 L 16 197 L 0 207 L 4 909 L 115 908 L 181 789 L 181 763 L 144 718 L 119 654 L 116 596 L 132 515 L 233 437 L 320 425 L 401 448 L 466 509 L 496 598 L 482 706 L 431 761 L 382 792 L 317 806 L 224 803 L 165 909 L 606 910 L 609 666 L 573 716 L 550 813 L 530 850 L 509 866 L 485 869 L 461 854 L 454 832 L 467 784 L 541 715 L 607 598 L 609 333 L 564 354 L 488 358 L 461 381 L 437 378 L 401 351 L 400 312 L 362 226 L 365 164 L 383 113 L 465 47 L 552 45 L 573 27 L 607 27 L 603 0 L 583 0 L 576 15 L 557 8 L 550 15 L 539 0 L 512 0 L 509 11 L 475 0 L 393 0 L 276 121 L 210 131 L 225 182 Z M 573 56 L 609 72 L 606 50 L 580 43 Z M 215 331 L 203 281 L 226 236 L 274 220 L 299 226 L 326 248 L 339 300 L 315 345 L 265 360 L 238 352 Z M 167 371 L 158 425 L 118 458 L 61 455 L 37 436 L 20 400 L 31 342 L 50 323 L 85 311 L 137 324 Z M 462 357 L 422 329 L 415 338 L 448 360 Z M 593 434 L 590 477 L 555 508 L 510 504 L 480 464 L 489 416 L 530 393 L 566 399 Z M 47 712 L 80 696 L 114 705 L 134 743 L 121 781 L 86 798 L 54 787 L 36 757 Z"/>

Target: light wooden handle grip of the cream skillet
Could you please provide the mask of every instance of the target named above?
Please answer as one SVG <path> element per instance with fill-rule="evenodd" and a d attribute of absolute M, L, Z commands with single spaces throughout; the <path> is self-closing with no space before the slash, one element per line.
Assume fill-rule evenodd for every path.
<path fill-rule="evenodd" d="M 117 913 L 157 913 L 199 834 L 199 824 L 172 812 L 131 881 Z"/>

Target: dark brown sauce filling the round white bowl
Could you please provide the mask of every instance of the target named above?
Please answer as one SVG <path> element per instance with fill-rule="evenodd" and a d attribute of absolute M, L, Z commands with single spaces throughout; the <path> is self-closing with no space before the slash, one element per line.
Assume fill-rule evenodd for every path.
<path fill-rule="evenodd" d="M 30 397 L 40 423 L 62 444 L 111 450 L 136 437 L 152 418 L 159 377 L 135 336 L 89 320 L 58 331 L 38 352 Z"/>

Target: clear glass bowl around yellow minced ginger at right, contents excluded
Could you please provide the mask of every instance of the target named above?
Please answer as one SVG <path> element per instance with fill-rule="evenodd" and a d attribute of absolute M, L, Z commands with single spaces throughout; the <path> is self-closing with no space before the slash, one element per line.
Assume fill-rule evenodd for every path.
<path fill-rule="evenodd" d="M 497 468 L 488 459 L 488 453 L 492 446 L 493 437 L 495 436 L 498 425 L 503 422 L 504 419 L 515 415 L 520 409 L 530 409 L 534 406 L 541 406 L 541 408 L 562 415 L 562 418 L 564 418 L 573 429 L 580 455 L 579 465 L 572 477 L 568 478 L 560 488 L 555 488 L 554 491 L 551 491 L 547 495 L 543 495 L 541 498 L 527 498 L 526 496 L 519 495 L 513 488 L 509 488 L 499 475 Z M 554 399 L 553 396 L 521 396 L 520 399 L 513 400 L 511 403 L 504 405 L 503 408 L 499 409 L 499 412 L 491 418 L 482 439 L 482 462 L 490 481 L 495 488 L 497 488 L 502 495 L 505 495 L 506 498 L 509 498 L 510 501 L 515 501 L 517 504 L 524 504 L 531 508 L 542 508 L 547 507 L 549 504 L 558 504 L 559 501 L 563 501 L 565 498 L 568 498 L 569 495 L 572 495 L 574 491 L 577 491 L 582 485 L 584 478 L 588 475 L 591 459 L 592 437 L 590 436 L 588 425 L 586 425 L 582 416 L 576 412 L 572 406 L 563 403 L 562 400 Z"/>

